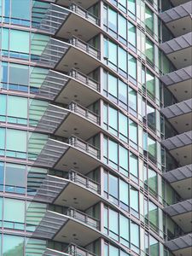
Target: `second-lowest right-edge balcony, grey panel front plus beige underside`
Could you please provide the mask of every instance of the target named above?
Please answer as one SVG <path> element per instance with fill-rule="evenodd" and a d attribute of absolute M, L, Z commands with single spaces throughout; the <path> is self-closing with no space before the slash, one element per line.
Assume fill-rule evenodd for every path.
<path fill-rule="evenodd" d="M 184 233 L 192 231 L 192 200 L 182 201 L 164 209 Z"/>

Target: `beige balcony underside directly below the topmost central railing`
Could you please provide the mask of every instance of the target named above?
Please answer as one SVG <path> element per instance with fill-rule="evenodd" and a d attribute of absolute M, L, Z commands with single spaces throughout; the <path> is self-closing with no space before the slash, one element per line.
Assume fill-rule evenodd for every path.
<path fill-rule="evenodd" d="M 76 36 L 84 41 L 89 41 L 91 38 L 102 32 L 102 29 L 86 19 L 70 10 L 67 19 L 61 24 L 58 31 L 55 33 L 57 38 L 71 38 Z M 86 29 L 84 29 L 86 27 Z"/>

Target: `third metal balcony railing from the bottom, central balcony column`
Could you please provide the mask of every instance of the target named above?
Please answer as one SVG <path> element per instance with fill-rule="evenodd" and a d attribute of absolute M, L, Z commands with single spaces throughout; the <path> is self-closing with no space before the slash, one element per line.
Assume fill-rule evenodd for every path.
<path fill-rule="evenodd" d="M 67 173 L 67 178 L 69 180 L 73 181 L 74 183 L 80 183 L 84 187 L 86 187 L 90 190 L 93 190 L 94 192 L 96 192 L 98 194 L 100 194 L 100 192 L 101 192 L 101 185 L 99 183 L 96 183 L 89 177 L 86 177 L 86 176 L 80 174 L 79 172 L 75 172 L 75 171 L 71 170 Z"/>

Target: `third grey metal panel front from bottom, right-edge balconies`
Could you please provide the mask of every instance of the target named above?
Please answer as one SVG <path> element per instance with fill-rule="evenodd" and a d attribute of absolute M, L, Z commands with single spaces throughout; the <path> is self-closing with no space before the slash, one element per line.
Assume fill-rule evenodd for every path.
<path fill-rule="evenodd" d="M 170 172 L 166 172 L 163 174 L 163 177 L 165 177 L 169 183 L 175 183 L 179 180 L 192 177 L 192 165 L 179 167 Z"/>

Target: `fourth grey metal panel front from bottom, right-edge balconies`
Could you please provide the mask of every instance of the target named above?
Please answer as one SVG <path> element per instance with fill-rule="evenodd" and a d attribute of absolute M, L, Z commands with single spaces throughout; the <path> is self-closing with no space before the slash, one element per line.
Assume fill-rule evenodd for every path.
<path fill-rule="evenodd" d="M 168 149 L 181 148 L 192 144 L 192 131 L 184 132 L 177 136 L 162 141 L 162 144 Z"/>

